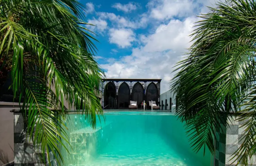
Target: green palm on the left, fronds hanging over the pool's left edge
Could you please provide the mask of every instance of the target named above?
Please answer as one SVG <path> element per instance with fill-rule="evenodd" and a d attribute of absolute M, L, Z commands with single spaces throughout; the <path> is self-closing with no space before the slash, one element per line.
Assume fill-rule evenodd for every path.
<path fill-rule="evenodd" d="M 1 70 L 11 70 L 30 138 L 35 127 L 34 144 L 58 162 L 58 145 L 67 141 L 64 102 L 81 107 L 92 127 L 103 114 L 97 93 L 104 73 L 93 58 L 83 8 L 76 0 L 0 0 Z"/>

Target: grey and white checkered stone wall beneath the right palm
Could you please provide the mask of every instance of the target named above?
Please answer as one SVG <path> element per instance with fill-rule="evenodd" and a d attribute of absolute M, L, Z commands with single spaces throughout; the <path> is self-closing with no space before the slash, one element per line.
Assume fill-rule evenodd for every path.
<path fill-rule="evenodd" d="M 217 141 L 215 142 L 215 166 L 235 166 L 238 164 L 237 157 L 234 157 L 234 153 L 238 150 L 243 140 L 241 139 L 241 134 L 244 129 L 241 127 L 243 125 L 242 121 L 237 121 L 238 117 L 235 118 L 232 115 L 228 117 L 223 117 L 221 121 L 220 129 L 216 129 Z M 228 126 L 223 122 L 227 121 Z M 256 157 L 253 156 L 252 160 L 248 160 L 249 164 L 256 166 Z M 238 164 L 239 166 L 239 164 Z"/>

